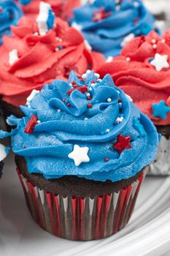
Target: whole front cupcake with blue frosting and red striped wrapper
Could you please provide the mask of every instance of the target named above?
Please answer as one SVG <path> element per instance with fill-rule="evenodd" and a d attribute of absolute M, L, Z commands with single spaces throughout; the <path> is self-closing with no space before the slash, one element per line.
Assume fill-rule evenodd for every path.
<path fill-rule="evenodd" d="M 111 236 L 131 217 L 158 133 L 147 116 L 89 70 L 54 80 L 10 116 L 12 150 L 26 203 L 50 233 L 72 240 Z"/>

